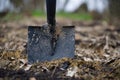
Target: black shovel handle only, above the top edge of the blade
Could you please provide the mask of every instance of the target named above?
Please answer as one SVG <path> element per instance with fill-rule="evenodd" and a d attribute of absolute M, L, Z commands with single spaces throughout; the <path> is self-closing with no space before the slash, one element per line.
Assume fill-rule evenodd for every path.
<path fill-rule="evenodd" d="M 47 8 L 47 23 L 50 26 L 55 26 L 56 0 L 46 0 L 46 8 Z"/>

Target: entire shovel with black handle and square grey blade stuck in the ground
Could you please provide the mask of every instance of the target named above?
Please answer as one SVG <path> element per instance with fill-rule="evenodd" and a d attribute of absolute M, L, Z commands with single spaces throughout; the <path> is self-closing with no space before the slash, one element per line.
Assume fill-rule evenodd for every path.
<path fill-rule="evenodd" d="M 56 34 L 56 0 L 46 0 L 47 25 L 29 26 L 28 62 L 44 62 L 61 58 L 73 58 L 75 50 L 74 26 L 62 26 Z M 58 26 L 59 27 L 59 26 Z"/>

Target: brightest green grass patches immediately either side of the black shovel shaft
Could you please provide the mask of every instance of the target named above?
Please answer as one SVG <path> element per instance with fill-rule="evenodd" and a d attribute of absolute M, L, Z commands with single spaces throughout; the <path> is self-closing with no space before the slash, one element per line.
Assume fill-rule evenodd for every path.
<path fill-rule="evenodd" d="M 33 11 L 32 15 L 35 17 L 43 17 L 45 18 L 46 13 L 42 11 Z M 72 20 L 92 20 L 92 16 L 89 13 L 65 13 L 65 12 L 58 12 L 58 18 L 68 18 Z"/>

